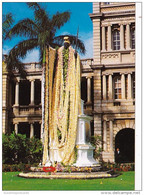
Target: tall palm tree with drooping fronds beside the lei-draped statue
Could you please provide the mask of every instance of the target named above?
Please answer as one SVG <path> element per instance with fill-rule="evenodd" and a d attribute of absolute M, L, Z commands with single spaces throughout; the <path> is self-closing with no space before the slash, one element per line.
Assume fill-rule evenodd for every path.
<path fill-rule="evenodd" d="M 57 12 L 50 17 L 40 4 L 27 3 L 27 5 L 34 11 L 34 20 L 26 18 L 19 21 L 10 29 L 6 36 L 6 39 L 18 35 L 27 38 L 26 40 L 19 42 L 10 50 L 7 58 L 8 70 L 16 68 L 19 72 L 23 72 L 24 66 L 20 61 L 20 58 L 24 58 L 27 52 L 30 52 L 34 48 L 39 48 L 40 64 L 42 65 L 46 47 L 51 46 L 56 48 L 63 44 L 64 36 L 56 36 L 56 32 L 70 19 L 70 12 Z M 65 36 L 69 36 L 72 46 L 77 45 L 77 49 L 80 53 L 85 53 L 85 47 L 81 40 L 77 40 L 77 37 L 73 35 Z"/>

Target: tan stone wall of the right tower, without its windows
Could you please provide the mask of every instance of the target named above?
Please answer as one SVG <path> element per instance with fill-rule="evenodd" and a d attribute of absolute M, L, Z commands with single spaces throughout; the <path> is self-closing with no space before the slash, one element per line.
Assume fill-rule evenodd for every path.
<path fill-rule="evenodd" d="M 128 45 L 130 45 L 128 29 L 130 29 L 132 23 L 135 23 L 134 12 L 134 3 L 110 2 L 108 5 L 104 3 L 93 4 L 91 19 L 93 22 L 94 36 L 94 133 L 102 135 L 103 139 L 106 139 L 106 146 L 104 145 L 105 140 L 103 140 L 103 148 L 106 148 L 106 151 L 102 152 L 104 161 L 114 162 L 116 134 L 124 128 L 135 128 L 135 100 L 132 95 L 133 88 L 128 88 L 132 86 L 132 74 L 135 72 L 135 50 L 128 48 Z M 102 13 L 103 17 L 101 17 Z M 112 30 L 116 24 L 119 26 L 119 29 L 121 29 L 120 50 L 113 50 L 112 46 Z M 120 25 L 122 26 L 120 27 Z M 104 34 L 105 38 L 102 39 Z M 124 36 L 122 36 L 122 34 Z M 111 44 L 109 38 L 111 38 Z M 105 40 L 105 43 L 103 40 Z M 100 44 L 102 44 L 103 50 L 101 50 Z M 122 45 L 124 46 L 123 49 Z M 115 100 L 113 79 L 115 75 L 121 77 L 122 74 L 124 74 L 125 79 L 125 97 Z M 105 75 L 105 78 L 103 78 L 103 75 Z M 121 77 L 121 85 L 123 85 L 124 89 L 122 78 L 123 77 Z M 106 86 L 105 90 L 103 89 L 103 82 Z M 110 84 L 111 82 L 112 85 Z M 110 92 L 112 92 L 112 96 L 109 96 Z M 104 123 L 106 123 L 105 133 Z"/>

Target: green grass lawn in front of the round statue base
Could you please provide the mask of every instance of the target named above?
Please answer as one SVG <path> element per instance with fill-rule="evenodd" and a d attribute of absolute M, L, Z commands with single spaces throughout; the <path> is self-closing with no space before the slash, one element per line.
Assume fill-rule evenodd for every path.
<path fill-rule="evenodd" d="M 3 190 L 134 190 L 134 171 L 105 179 L 26 179 L 19 172 L 3 172 Z"/>

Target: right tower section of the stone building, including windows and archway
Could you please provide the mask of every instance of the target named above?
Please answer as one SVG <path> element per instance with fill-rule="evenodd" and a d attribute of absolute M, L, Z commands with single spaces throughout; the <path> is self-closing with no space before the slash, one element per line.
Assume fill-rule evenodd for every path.
<path fill-rule="evenodd" d="M 90 17 L 94 134 L 103 138 L 103 160 L 113 162 L 117 148 L 134 154 L 135 3 L 93 3 Z"/>

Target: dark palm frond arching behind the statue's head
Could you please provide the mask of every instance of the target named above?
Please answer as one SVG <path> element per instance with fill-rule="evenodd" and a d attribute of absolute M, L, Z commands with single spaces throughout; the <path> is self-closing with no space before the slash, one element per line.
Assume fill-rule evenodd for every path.
<path fill-rule="evenodd" d="M 75 49 L 77 49 L 81 54 L 85 54 L 86 49 L 85 49 L 84 43 L 80 39 L 77 39 L 77 36 L 74 36 L 74 35 L 61 35 L 61 36 L 55 37 L 53 42 L 55 44 L 58 44 L 58 45 L 63 45 L 65 36 L 69 37 L 70 43 Z M 76 44 L 77 44 L 77 48 L 76 48 Z"/>

